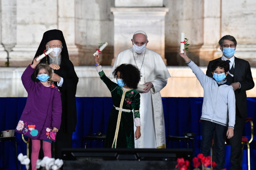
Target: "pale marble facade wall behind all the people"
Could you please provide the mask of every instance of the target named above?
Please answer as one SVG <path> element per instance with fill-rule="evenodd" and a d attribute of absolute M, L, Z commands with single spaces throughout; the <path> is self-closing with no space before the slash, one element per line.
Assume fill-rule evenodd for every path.
<path fill-rule="evenodd" d="M 176 80 L 182 82 L 184 88 L 189 82 L 183 72 L 188 69 L 176 67 L 186 65 L 177 53 L 180 33 L 184 32 L 189 39 L 189 57 L 200 66 L 221 57 L 218 40 L 224 35 L 233 35 L 238 42 L 235 56 L 250 62 L 255 78 L 255 6 L 254 0 L 0 0 L 1 72 L 28 65 L 44 32 L 50 29 L 63 31 L 70 60 L 84 71 L 88 71 L 84 66 L 94 64 L 93 53 L 98 43 L 108 42 L 100 63 L 110 67 L 120 51 L 132 46 L 134 32 L 142 29 L 148 34 L 147 47 L 160 53 L 172 70 L 163 96 L 201 96 L 201 91 L 196 92 L 201 88 L 199 84 L 193 86 L 194 94 L 190 91 L 183 94 L 179 87 L 175 88 Z M 7 58 L 10 68 L 4 67 Z M 13 74 L 9 74 L 13 79 Z M 19 77 L 20 72 L 15 76 Z M 1 81 L 3 77 L 6 75 L 0 75 Z M 86 81 L 94 79 L 96 77 Z M 1 88 L 6 89 L 7 84 L 3 83 Z M 17 92 L 12 90 L 10 95 Z M 254 96 L 253 93 L 250 91 L 249 96 Z"/>

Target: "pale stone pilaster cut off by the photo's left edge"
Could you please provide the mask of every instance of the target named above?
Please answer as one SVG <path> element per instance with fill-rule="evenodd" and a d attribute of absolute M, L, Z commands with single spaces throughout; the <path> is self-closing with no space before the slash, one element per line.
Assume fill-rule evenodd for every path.
<path fill-rule="evenodd" d="M 0 1 L 0 66 L 6 65 L 8 54 L 16 43 L 16 3 L 16 0 Z"/>

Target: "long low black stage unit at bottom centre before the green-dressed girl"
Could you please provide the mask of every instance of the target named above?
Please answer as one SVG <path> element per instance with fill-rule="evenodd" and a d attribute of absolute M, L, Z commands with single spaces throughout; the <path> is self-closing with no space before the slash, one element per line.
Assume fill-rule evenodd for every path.
<path fill-rule="evenodd" d="M 64 170 L 174 170 L 177 158 L 192 162 L 192 150 L 70 148 L 62 151 Z"/>

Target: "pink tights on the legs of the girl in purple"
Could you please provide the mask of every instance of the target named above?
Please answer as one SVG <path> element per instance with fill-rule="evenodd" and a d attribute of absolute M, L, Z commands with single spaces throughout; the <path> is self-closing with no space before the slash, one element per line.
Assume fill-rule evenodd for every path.
<path fill-rule="evenodd" d="M 36 161 L 38 160 L 38 155 L 41 147 L 40 140 L 32 139 L 32 153 L 31 153 L 31 166 L 32 170 L 36 170 Z M 43 141 L 43 151 L 44 156 L 52 157 L 51 143 Z"/>

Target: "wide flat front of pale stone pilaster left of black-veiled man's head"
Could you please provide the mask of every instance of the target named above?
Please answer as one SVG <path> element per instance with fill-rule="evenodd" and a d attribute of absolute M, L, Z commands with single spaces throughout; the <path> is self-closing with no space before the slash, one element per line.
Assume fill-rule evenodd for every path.
<path fill-rule="evenodd" d="M 32 62 L 45 31 L 58 28 L 57 0 L 17 0 L 16 45 L 10 52 L 10 66 Z"/>

